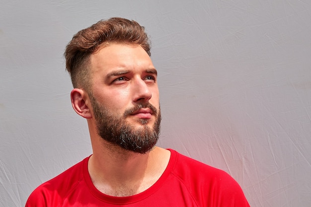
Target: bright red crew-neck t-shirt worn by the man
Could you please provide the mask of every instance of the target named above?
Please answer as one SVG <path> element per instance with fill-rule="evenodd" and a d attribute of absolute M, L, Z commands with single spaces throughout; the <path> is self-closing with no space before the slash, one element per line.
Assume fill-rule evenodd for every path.
<path fill-rule="evenodd" d="M 249 207 L 228 173 L 169 150 L 164 173 L 140 194 L 113 197 L 98 191 L 88 174 L 87 157 L 40 185 L 26 207 Z"/>

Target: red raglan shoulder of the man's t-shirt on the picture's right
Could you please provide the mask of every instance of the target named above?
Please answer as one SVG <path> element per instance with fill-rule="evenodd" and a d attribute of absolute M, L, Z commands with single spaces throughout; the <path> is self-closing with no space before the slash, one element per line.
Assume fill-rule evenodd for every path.
<path fill-rule="evenodd" d="M 209 195 L 217 195 L 219 206 L 231 206 L 235 203 L 235 206 L 249 207 L 241 187 L 227 172 L 174 150 L 173 153 L 176 155 L 172 174 L 201 206 L 216 202 Z"/>

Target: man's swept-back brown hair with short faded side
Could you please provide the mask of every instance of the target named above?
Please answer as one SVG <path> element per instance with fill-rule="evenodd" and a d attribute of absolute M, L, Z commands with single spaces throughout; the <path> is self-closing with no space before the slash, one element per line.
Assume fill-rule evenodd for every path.
<path fill-rule="evenodd" d="M 74 88 L 90 89 L 89 57 L 99 48 L 113 43 L 139 44 L 149 56 L 151 55 L 145 28 L 136 21 L 120 17 L 100 20 L 80 30 L 66 47 L 66 69 L 70 73 Z"/>

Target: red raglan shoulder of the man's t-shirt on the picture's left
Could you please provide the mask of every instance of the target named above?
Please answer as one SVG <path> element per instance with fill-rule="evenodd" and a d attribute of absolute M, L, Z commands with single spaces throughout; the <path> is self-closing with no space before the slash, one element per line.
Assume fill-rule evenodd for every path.
<path fill-rule="evenodd" d="M 88 157 L 62 172 L 58 176 L 38 186 L 29 196 L 26 207 L 49 205 L 50 201 L 65 198 L 71 189 L 74 189 L 83 179 L 83 164 Z"/>

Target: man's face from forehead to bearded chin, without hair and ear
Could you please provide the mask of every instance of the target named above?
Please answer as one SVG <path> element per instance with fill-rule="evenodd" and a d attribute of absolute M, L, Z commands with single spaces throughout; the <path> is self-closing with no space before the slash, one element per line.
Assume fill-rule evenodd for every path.
<path fill-rule="evenodd" d="M 158 139 L 156 69 L 139 45 L 112 44 L 90 57 L 89 94 L 98 134 L 125 149 L 145 153 Z"/>

